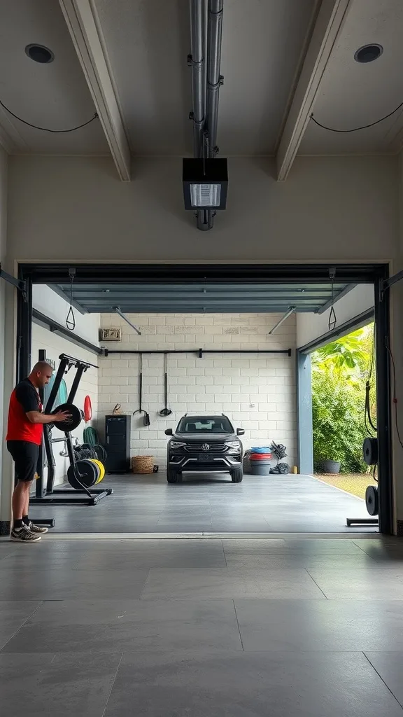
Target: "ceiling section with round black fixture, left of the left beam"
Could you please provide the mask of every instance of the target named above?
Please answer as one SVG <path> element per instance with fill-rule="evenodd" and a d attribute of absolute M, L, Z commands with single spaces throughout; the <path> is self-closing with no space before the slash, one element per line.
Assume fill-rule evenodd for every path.
<path fill-rule="evenodd" d="M 40 65 L 25 54 L 37 43 L 54 52 Z M 80 125 L 95 113 L 93 100 L 56 0 L 0 3 L 0 100 L 28 122 L 51 129 Z M 35 130 L 1 110 L 1 125 L 19 153 L 108 153 L 99 120 L 77 132 Z"/>

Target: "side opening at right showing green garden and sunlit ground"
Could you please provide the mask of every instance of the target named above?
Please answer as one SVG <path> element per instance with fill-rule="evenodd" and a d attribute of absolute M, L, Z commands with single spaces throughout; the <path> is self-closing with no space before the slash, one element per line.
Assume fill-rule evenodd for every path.
<path fill-rule="evenodd" d="M 374 323 L 318 348 L 311 366 L 315 478 L 359 500 L 351 501 L 350 518 L 371 521 L 365 500 L 369 486 L 377 491 L 378 476 L 363 445 L 376 437 Z"/>

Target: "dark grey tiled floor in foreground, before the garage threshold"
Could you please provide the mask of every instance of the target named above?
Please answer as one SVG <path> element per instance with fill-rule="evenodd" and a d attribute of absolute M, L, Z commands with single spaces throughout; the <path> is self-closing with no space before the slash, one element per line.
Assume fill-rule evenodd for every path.
<path fill-rule="evenodd" d="M 399 539 L 0 542 L 4 715 L 403 717 L 402 664 Z"/>

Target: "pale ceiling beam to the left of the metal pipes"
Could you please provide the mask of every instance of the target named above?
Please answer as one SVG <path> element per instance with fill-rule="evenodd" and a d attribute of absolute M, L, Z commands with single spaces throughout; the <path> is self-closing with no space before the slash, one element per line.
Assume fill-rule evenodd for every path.
<path fill-rule="evenodd" d="M 94 2 L 59 2 L 120 179 L 131 181 L 131 152 Z"/>

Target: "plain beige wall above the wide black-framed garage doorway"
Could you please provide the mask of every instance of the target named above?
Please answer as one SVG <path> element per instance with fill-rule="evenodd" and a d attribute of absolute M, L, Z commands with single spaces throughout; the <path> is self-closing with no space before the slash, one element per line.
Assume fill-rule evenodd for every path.
<path fill-rule="evenodd" d="M 229 159 L 228 207 L 201 234 L 184 211 L 181 160 L 10 160 L 10 257 L 19 260 L 384 260 L 397 250 L 394 157 Z"/>

